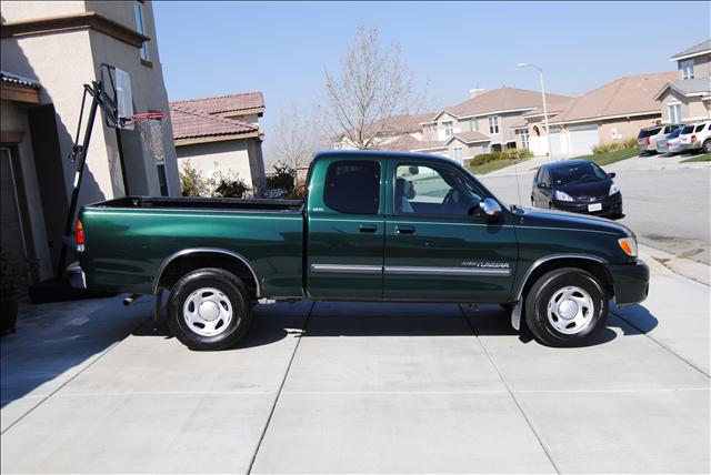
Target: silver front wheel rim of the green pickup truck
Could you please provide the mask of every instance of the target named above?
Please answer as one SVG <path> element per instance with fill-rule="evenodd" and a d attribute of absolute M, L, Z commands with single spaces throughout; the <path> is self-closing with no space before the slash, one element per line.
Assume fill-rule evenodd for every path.
<path fill-rule="evenodd" d="M 567 286 L 554 292 L 548 302 L 548 321 L 560 333 L 574 335 L 590 325 L 594 309 L 588 292 Z"/>

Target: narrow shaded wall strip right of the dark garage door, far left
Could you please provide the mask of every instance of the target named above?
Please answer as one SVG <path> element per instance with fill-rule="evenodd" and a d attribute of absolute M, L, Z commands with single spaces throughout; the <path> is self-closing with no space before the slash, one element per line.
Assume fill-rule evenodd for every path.
<path fill-rule="evenodd" d="M 24 201 L 30 210 L 29 230 L 32 234 L 32 247 L 39 264 L 39 277 L 41 280 L 52 276 L 52 262 L 47 246 L 47 232 L 44 216 L 41 212 L 42 202 L 37 171 L 34 170 L 34 153 L 30 138 L 30 125 L 27 121 L 27 107 L 11 101 L 0 101 L 0 123 L 3 131 L 22 133 L 22 141 L 18 143 L 17 151 L 21 164 L 22 184 L 24 185 Z M 16 172 L 17 173 L 17 172 Z"/>

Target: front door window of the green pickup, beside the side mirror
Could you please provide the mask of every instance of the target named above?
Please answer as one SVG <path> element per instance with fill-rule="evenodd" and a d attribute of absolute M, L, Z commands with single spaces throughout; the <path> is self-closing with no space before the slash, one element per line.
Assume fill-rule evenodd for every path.
<path fill-rule="evenodd" d="M 464 216 L 481 200 L 475 184 L 450 168 L 400 164 L 395 169 L 395 214 Z"/>

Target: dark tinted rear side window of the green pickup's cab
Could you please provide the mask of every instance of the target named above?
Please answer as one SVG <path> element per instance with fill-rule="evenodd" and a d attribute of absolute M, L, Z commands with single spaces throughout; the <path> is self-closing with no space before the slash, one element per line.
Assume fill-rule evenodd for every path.
<path fill-rule="evenodd" d="M 380 163 L 367 160 L 331 163 L 326 175 L 323 203 L 339 213 L 378 214 Z"/>

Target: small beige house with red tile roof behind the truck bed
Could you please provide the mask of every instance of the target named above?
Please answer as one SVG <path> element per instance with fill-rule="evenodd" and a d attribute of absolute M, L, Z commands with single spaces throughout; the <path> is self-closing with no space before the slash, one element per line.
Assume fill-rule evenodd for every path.
<path fill-rule="evenodd" d="M 264 159 L 259 118 L 261 92 L 243 92 L 170 103 L 178 164 L 209 178 L 237 175 L 259 193 L 264 185 Z"/>

